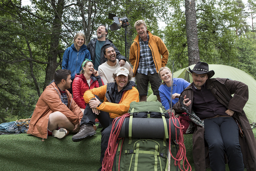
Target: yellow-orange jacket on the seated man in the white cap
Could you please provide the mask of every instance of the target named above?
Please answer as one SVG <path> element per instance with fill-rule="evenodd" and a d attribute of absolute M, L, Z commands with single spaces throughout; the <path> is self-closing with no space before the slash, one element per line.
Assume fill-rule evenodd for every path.
<path fill-rule="evenodd" d="M 91 99 L 95 98 L 94 95 L 99 96 L 100 99 L 104 99 L 104 102 L 96 109 L 109 112 L 110 118 L 116 118 L 128 113 L 131 102 L 139 102 L 139 92 L 133 84 L 135 85 L 133 81 L 128 82 L 119 103 L 110 102 L 106 93 L 107 89 L 110 91 L 110 88 L 115 88 L 116 83 L 107 83 L 107 85 L 87 90 L 84 93 L 84 100 L 89 103 Z"/>

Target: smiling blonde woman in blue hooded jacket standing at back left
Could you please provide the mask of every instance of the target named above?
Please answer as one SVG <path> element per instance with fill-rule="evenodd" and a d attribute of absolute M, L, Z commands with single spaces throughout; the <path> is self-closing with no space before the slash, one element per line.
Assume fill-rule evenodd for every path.
<path fill-rule="evenodd" d="M 62 69 L 69 69 L 71 71 L 71 80 L 73 82 L 76 73 L 82 70 L 81 66 L 85 59 L 91 60 L 91 54 L 85 45 L 85 35 L 83 33 L 77 33 L 74 38 L 74 43 L 68 47 L 62 58 Z M 72 94 L 72 83 L 68 89 Z"/>

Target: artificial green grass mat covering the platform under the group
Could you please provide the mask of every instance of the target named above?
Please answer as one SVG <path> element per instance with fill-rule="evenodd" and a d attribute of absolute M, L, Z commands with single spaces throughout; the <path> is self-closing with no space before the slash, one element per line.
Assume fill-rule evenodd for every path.
<path fill-rule="evenodd" d="M 72 142 L 74 134 L 62 139 L 42 138 L 28 134 L 0 135 L 0 170 L 84 170 L 96 171 L 100 166 L 101 128 L 97 134 L 80 142 Z M 256 135 L 256 129 L 252 130 Z M 192 134 L 184 135 L 186 156 L 194 169 Z M 207 171 L 211 169 L 207 169 Z M 226 165 L 228 171 L 228 166 Z"/>

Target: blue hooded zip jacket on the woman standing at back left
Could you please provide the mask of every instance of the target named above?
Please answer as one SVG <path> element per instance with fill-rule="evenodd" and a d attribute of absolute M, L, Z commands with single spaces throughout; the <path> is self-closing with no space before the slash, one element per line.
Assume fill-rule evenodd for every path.
<path fill-rule="evenodd" d="M 72 44 L 68 47 L 62 58 L 62 69 L 69 69 L 71 71 L 71 79 L 75 78 L 76 73 L 82 70 L 82 63 L 85 59 L 91 60 L 91 54 L 87 49 L 86 45 L 82 45 L 77 52 L 75 45 Z"/>

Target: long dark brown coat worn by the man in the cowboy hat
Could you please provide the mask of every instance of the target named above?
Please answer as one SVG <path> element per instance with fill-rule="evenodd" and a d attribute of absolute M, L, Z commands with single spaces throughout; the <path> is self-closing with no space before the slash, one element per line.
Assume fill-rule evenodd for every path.
<path fill-rule="evenodd" d="M 181 97 L 186 95 L 193 104 L 193 90 L 192 84 L 189 85 L 182 93 Z M 247 170 L 256 170 L 256 141 L 252 132 L 250 123 L 244 113 L 244 105 L 248 100 L 249 92 L 248 86 L 239 81 L 233 81 L 225 78 L 211 78 L 207 79 L 206 86 L 216 97 L 217 100 L 228 109 L 235 111 L 233 115 L 241 124 L 244 132 L 244 137 L 239 136 L 239 143 L 244 159 L 244 167 Z M 234 94 L 232 97 L 231 94 Z M 181 112 L 179 109 L 180 103 L 177 102 L 173 109 L 176 112 Z M 189 105 L 189 112 L 191 112 L 192 105 Z M 204 143 L 204 128 L 196 126 L 193 134 L 193 159 L 196 171 L 204 171 L 210 166 L 208 154 L 208 146 Z"/>

